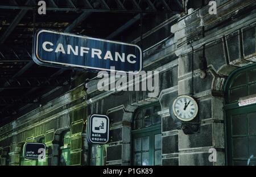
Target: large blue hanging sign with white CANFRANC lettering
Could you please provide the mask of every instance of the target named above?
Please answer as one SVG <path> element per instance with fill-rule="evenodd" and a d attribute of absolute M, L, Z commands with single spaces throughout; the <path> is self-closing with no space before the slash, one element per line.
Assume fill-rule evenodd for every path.
<path fill-rule="evenodd" d="M 142 70 L 138 45 L 41 29 L 35 33 L 32 58 L 38 65 L 57 68 L 121 71 Z"/>

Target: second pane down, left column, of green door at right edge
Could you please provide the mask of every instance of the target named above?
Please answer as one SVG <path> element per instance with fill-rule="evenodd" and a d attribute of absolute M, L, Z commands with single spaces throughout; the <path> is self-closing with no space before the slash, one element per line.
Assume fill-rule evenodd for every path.
<path fill-rule="evenodd" d="M 247 138 L 233 138 L 233 158 L 247 158 Z"/>

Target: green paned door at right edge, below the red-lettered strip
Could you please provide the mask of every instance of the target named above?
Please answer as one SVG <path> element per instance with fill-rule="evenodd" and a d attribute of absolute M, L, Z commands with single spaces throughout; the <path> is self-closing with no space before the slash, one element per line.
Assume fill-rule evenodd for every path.
<path fill-rule="evenodd" d="M 227 111 L 228 165 L 256 165 L 256 105 Z"/>

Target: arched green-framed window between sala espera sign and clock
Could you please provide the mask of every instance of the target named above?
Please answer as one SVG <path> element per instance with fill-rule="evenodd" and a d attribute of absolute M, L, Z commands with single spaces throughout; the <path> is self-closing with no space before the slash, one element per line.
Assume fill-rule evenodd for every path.
<path fill-rule="evenodd" d="M 160 103 L 137 109 L 133 117 L 132 165 L 162 165 Z"/>

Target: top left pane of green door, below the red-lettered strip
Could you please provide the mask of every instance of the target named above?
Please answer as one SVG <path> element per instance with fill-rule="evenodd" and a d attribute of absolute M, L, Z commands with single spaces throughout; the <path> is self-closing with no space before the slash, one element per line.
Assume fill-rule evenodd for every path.
<path fill-rule="evenodd" d="M 232 134 L 234 135 L 245 135 L 246 130 L 246 115 L 234 115 L 232 116 Z"/>

